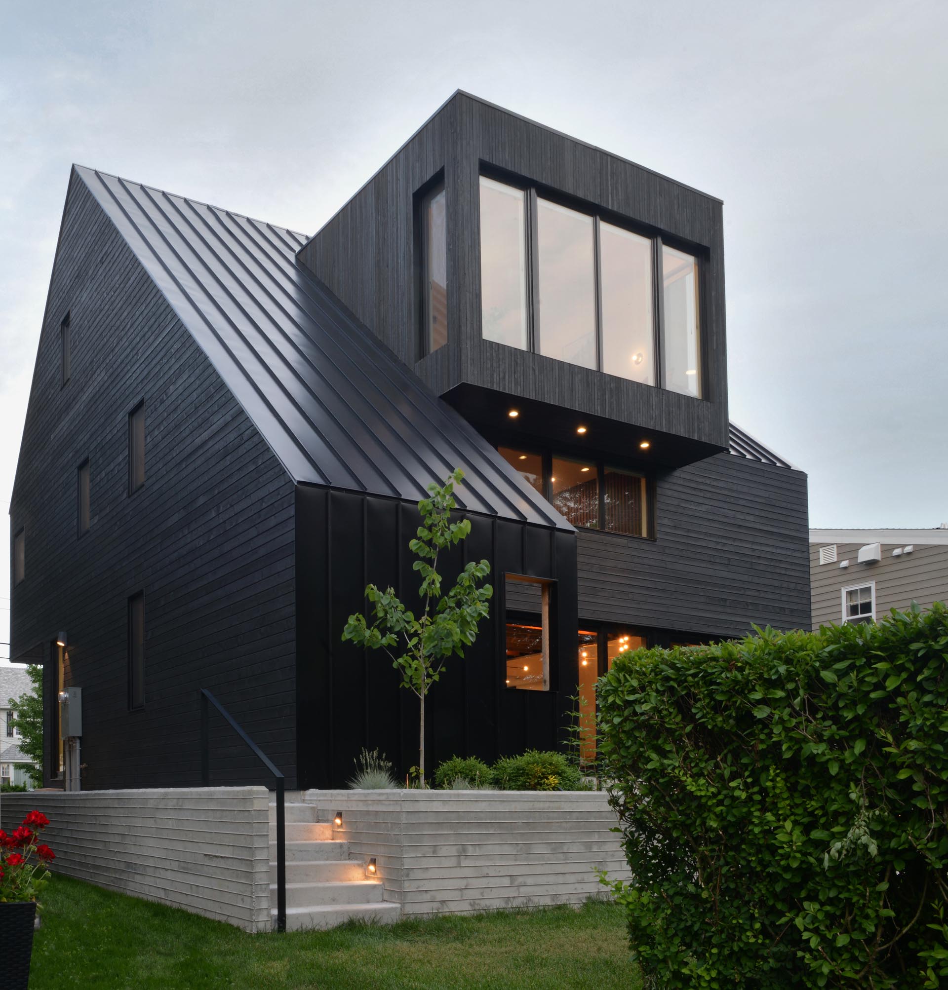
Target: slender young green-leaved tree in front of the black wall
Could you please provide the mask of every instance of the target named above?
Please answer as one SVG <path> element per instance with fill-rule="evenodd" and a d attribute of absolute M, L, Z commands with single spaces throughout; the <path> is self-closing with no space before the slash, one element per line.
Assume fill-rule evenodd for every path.
<path fill-rule="evenodd" d="M 474 644 L 477 623 L 487 617 L 487 602 L 493 589 L 481 585 L 490 573 L 486 560 L 467 564 L 455 586 L 447 594 L 441 590 L 438 555 L 467 539 L 471 523 L 463 519 L 451 522 L 456 507 L 454 486 L 465 476 L 461 468 L 452 472 L 444 485 L 428 486 L 429 498 L 418 503 L 424 525 L 409 548 L 418 559 L 413 569 L 421 574 L 419 597 L 423 611 L 419 617 L 405 608 L 392 587 L 379 591 L 374 584 L 366 588 L 374 622 L 362 613 L 349 617 L 343 640 L 352 640 L 370 649 L 384 649 L 392 666 L 401 673 L 401 686 L 413 691 L 420 703 L 418 744 L 419 786 L 425 786 L 425 696 L 441 676 L 445 661 L 453 653 L 464 656 L 466 646 Z"/>

